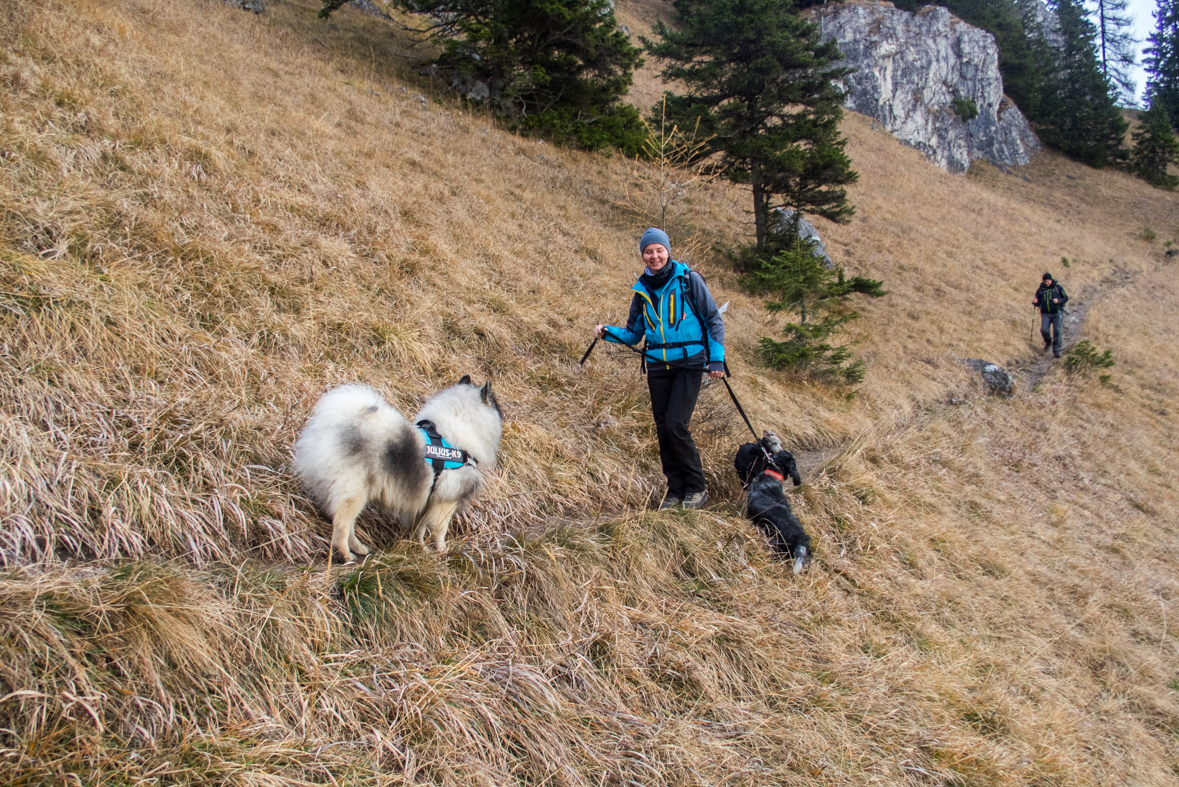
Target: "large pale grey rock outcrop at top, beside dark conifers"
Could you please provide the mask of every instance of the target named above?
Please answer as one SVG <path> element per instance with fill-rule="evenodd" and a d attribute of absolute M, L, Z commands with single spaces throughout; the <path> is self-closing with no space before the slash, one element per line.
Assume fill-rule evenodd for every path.
<path fill-rule="evenodd" d="M 890 2 L 832 4 L 816 12 L 856 73 L 847 108 L 875 118 L 937 166 L 966 172 L 987 159 L 1027 164 L 1040 143 L 1003 95 L 994 37 L 940 6 L 913 14 Z"/>

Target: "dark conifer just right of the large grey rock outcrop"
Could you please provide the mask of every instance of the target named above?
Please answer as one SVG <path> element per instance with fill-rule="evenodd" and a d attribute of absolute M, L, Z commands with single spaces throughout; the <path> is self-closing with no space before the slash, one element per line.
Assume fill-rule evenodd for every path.
<path fill-rule="evenodd" d="M 1040 139 L 1089 166 L 1125 159 L 1126 121 L 1098 62 L 1096 31 L 1079 0 L 1053 0 L 1060 48 L 1039 42 L 1046 73 L 1035 120 Z"/>

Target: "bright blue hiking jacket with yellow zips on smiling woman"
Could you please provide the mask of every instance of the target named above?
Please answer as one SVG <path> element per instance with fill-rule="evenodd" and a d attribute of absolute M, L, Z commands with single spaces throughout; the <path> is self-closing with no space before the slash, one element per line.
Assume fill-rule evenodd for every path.
<path fill-rule="evenodd" d="M 632 287 L 626 329 L 606 328 L 605 339 L 634 345 L 646 338 L 645 359 L 654 369 L 720 371 L 725 362 L 725 323 L 704 277 L 680 262 L 658 290 L 640 278 Z"/>

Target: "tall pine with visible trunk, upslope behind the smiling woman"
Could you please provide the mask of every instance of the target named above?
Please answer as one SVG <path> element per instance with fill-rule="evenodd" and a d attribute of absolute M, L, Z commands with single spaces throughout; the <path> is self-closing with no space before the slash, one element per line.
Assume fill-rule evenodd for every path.
<path fill-rule="evenodd" d="M 770 250 L 772 212 L 789 207 L 835 221 L 854 212 L 843 187 L 856 173 L 839 138 L 843 92 L 850 73 L 802 19 L 793 0 L 676 0 L 681 25 L 656 25 L 644 39 L 667 82 L 667 114 L 680 127 L 710 137 L 718 171 L 747 185 L 758 249 Z"/>

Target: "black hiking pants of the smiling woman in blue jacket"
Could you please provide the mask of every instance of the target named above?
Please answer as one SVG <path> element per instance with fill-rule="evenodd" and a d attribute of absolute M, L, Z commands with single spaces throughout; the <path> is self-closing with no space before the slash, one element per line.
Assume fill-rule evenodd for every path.
<path fill-rule="evenodd" d="M 668 497 L 683 500 L 704 491 L 704 465 L 689 431 L 703 379 L 704 372 L 699 369 L 647 368 L 651 411 L 656 417 L 659 461 L 667 476 Z"/>

